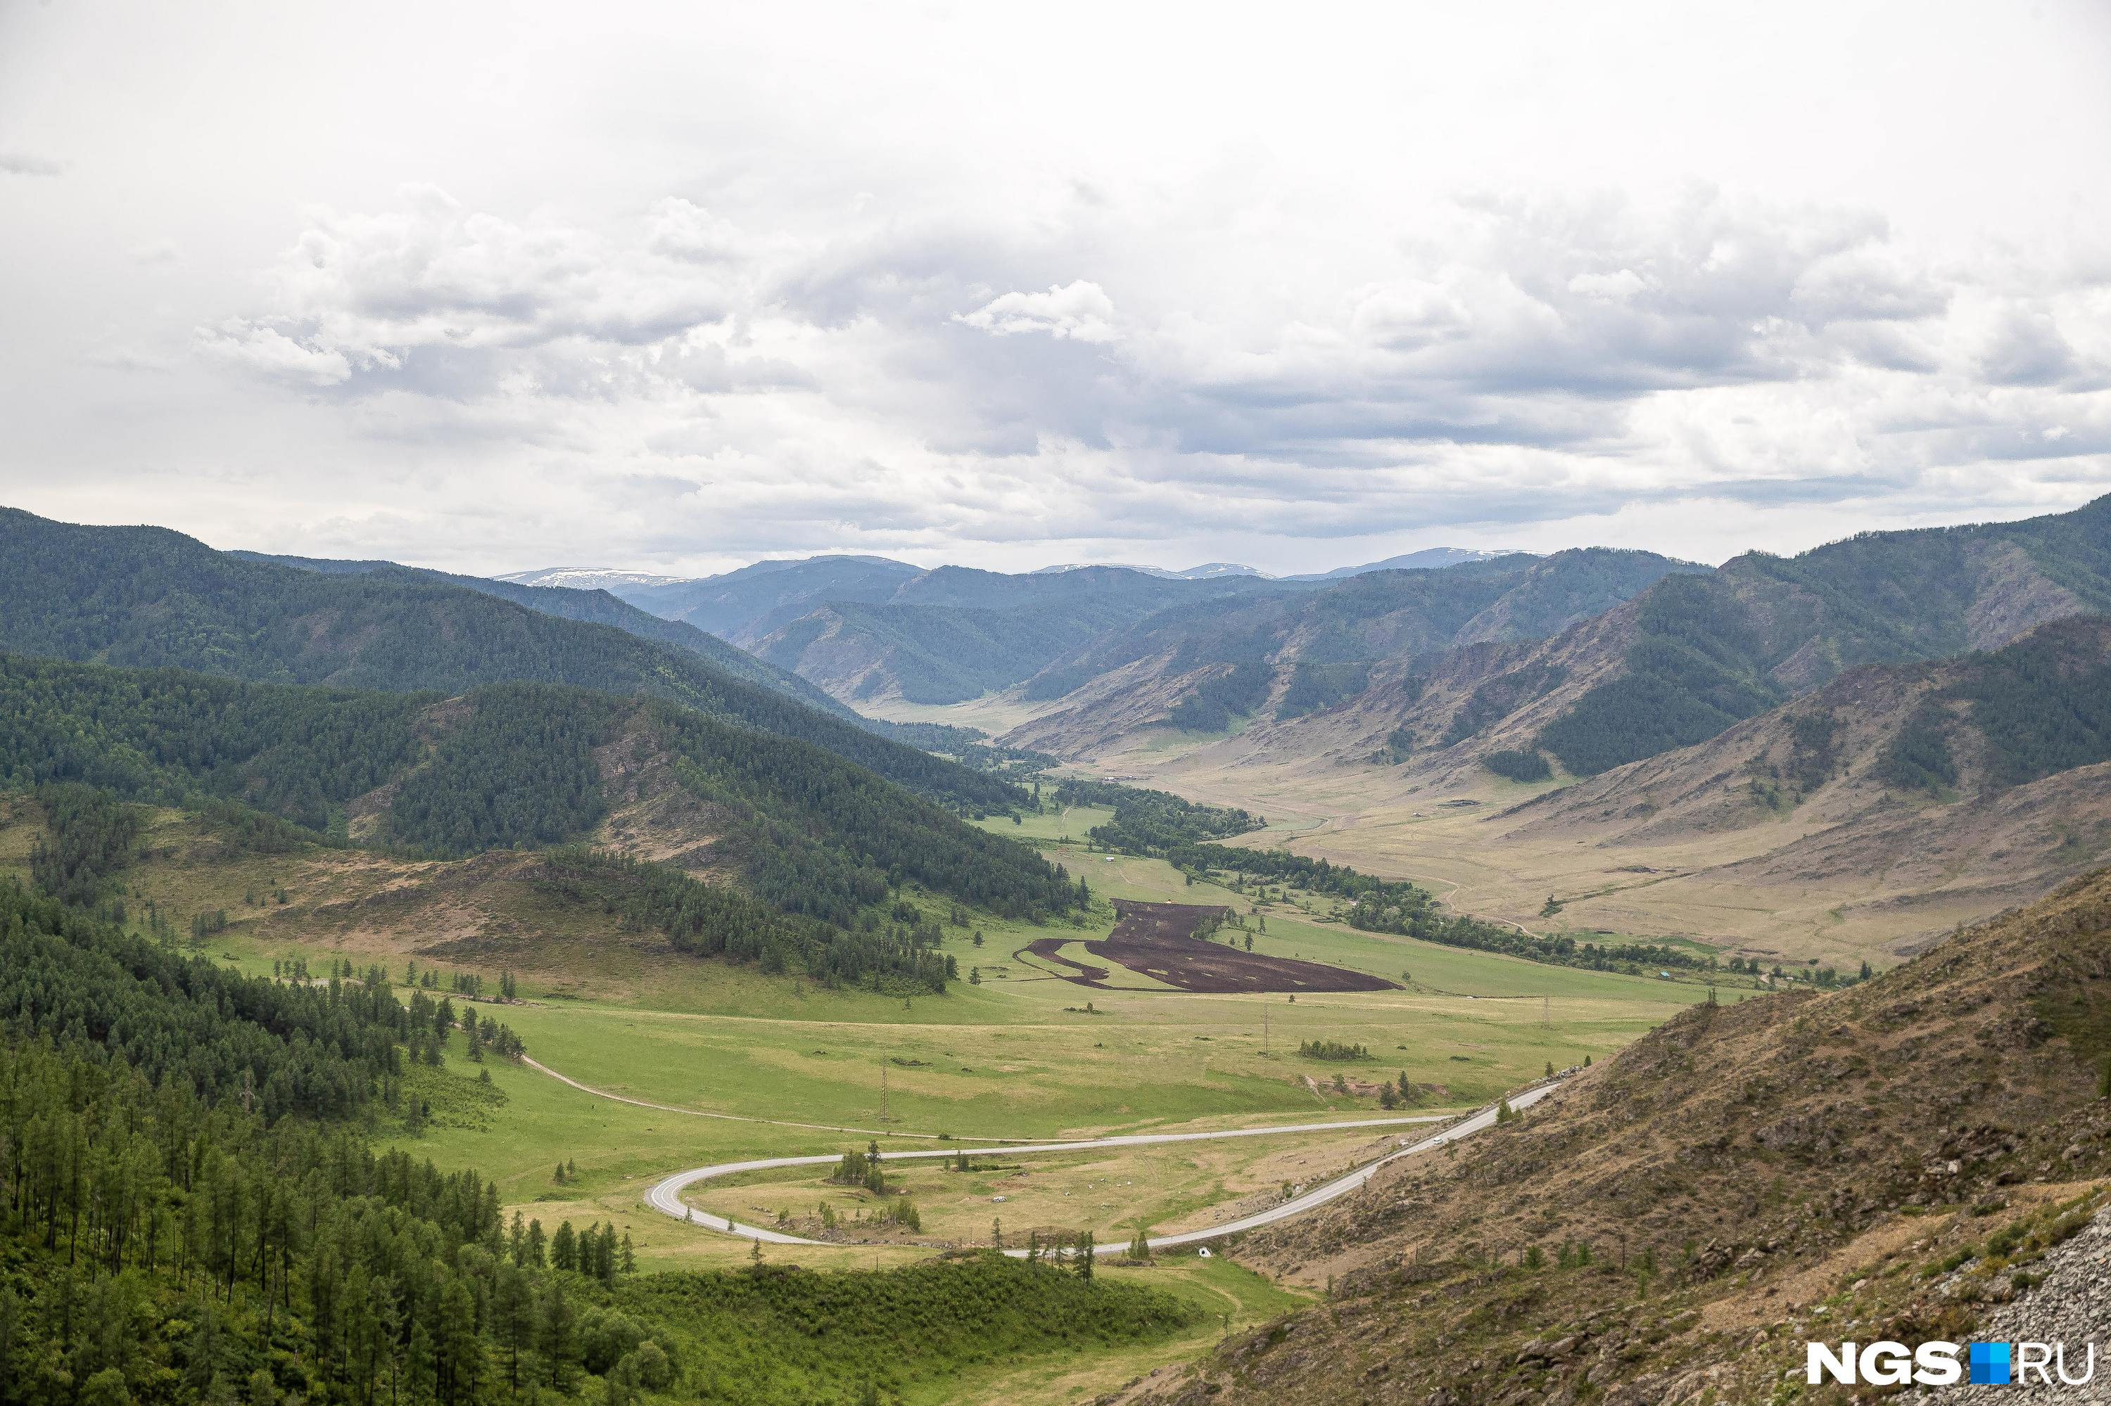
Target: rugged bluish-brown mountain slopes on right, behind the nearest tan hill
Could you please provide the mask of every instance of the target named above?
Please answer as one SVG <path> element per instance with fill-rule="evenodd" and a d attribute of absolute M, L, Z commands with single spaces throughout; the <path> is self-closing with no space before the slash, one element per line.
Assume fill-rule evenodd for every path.
<path fill-rule="evenodd" d="M 1528 608 L 1514 593 L 1446 631 L 1419 616 L 1404 629 L 1383 610 L 1353 629 L 1324 619 L 1279 633 L 1226 619 L 1220 640 L 1199 638 L 1188 619 L 1146 621 L 1056 669 L 1068 695 L 1007 741 L 1091 762 L 1180 743 L 1226 764 L 1345 764 L 1387 745 L 1397 760 L 1406 745 L 1425 775 L 1545 745 L 1571 771 L 1598 773 L 1706 741 L 1862 665 L 1993 650 L 2107 610 L 2107 524 L 2111 498 L 2020 524 L 1872 532 L 1799 557 L 1750 553 L 1708 576 L 1670 574 L 1640 593 L 1541 593 Z M 1233 739 L 1169 739 L 1163 711 L 1136 707 L 1153 688 L 1193 688 L 1199 665 L 1256 648 L 1273 686 L 1248 701 L 1252 724 Z M 1292 667 L 1319 661 L 1334 684 L 1307 695 L 1309 707 L 1286 707 Z"/>

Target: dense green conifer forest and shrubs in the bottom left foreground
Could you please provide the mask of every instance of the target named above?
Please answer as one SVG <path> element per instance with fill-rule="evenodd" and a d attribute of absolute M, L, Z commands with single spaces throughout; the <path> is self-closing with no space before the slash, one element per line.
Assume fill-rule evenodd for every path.
<path fill-rule="evenodd" d="M 790 1404 L 897 1383 L 882 1343 L 929 1370 L 1191 1319 L 1007 1262 L 633 1275 L 612 1224 L 545 1235 L 477 1172 L 367 1144 L 405 1047 L 517 1049 L 471 1022 L 380 969 L 245 977 L 0 882 L 0 1406 Z"/>

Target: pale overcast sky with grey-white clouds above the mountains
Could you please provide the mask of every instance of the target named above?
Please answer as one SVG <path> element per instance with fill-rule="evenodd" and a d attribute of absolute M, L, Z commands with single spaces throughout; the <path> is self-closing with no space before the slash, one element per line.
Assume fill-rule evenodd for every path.
<path fill-rule="evenodd" d="M 0 0 L 0 502 L 701 574 L 2111 492 L 2111 4 Z"/>

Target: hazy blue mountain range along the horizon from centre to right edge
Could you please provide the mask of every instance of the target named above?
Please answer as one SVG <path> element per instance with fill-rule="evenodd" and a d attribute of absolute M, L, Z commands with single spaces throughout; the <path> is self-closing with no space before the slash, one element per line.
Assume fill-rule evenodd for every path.
<path fill-rule="evenodd" d="M 1376 762 L 1404 785 L 1459 785 L 1490 758 L 1503 775 L 1606 775 L 1533 823 L 1642 844 L 1682 825 L 1720 834 L 1725 821 L 1685 800 L 1606 830 L 1590 798 L 1685 796 L 1695 787 L 1666 777 L 1712 777 L 1716 739 L 1754 735 L 1733 733 L 1748 720 L 1765 735 L 1811 726 L 1796 722 L 1811 716 L 1799 701 L 1858 669 L 1984 654 L 2041 625 L 2111 612 L 2111 498 L 2024 521 L 1864 532 L 1720 568 L 1609 549 L 1433 549 L 1275 581 L 813 557 L 616 593 L 633 608 L 625 629 L 650 631 L 646 619 L 665 616 L 722 635 L 758 661 L 747 667 L 766 669 L 760 682 L 844 714 L 916 705 L 925 711 L 895 716 L 931 718 L 931 705 L 996 701 L 984 716 L 1003 718 L 1001 743 L 1098 764 L 1161 754 L 1153 739 L 1176 739 L 1195 766 Z M 604 595 L 597 610 L 621 604 Z M 735 650 L 722 654 L 739 667 L 726 659 Z M 1853 688 L 1881 692 L 1868 680 Z M 1856 716 L 1875 737 L 1875 716 Z M 1902 718 L 1887 726 L 1896 733 Z M 1870 766 L 1843 764 L 1841 775 L 1875 785 Z M 1737 785 L 1750 779 L 1739 773 Z M 1967 785 L 1955 792 L 1967 804 L 1942 815 L 1995 796 L 2014 806 L 2018 785 L 2039 781 Z M 1799 830 L 1845 804 L 1832 792 L 1769 794 L 1786 798 L 1775 813 Z M 1858 836 L 1881 830 L 1853 813 L 1864 815 Z M 2050 834 L 2077 823 L 2094 834 L 2090 815 L 2062 806 L 2031 821 Z M 1801 863 L 1796 844 L 1767 863 Z M 1866 857 L 1843 855 L 1841 868 Z"/>

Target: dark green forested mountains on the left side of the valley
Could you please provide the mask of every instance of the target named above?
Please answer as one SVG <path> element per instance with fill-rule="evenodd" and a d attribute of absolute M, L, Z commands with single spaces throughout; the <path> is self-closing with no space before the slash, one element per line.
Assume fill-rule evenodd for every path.
<path fill-rule="evenodd" d="M 517 897 L 471 931 L 517 929 L 521 901 L 559 927 L 621 912 L 680 952 L 944 990 L 908 891 L 1034 923 L 1085 901 L 963 819 L 1013 811 L 1015 785 L 802 692 L 602 591 L 0 511 L 0 792 L 68 830 L 89 897 L 139 823 L 110 804 L 146 802 L 203 817 L 207 866 L 312 855 L 363 897 L 304 920 L 407 925 L 420 950 L 496 885 Z"/>

